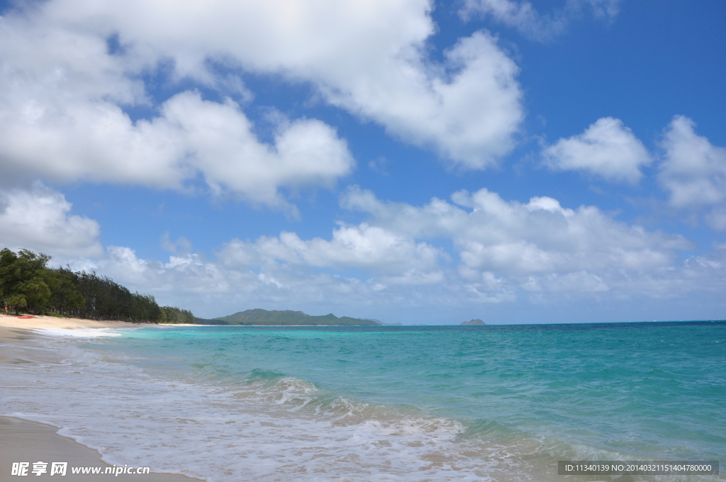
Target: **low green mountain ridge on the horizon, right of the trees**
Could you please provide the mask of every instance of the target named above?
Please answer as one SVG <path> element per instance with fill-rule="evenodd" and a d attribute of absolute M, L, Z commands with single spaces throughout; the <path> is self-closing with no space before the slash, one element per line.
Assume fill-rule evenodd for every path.
<path fill-rule="evenodd" d="M 382 323 L 375 322 L 372 319 L 351 318 L 350 316 L 335 316 L 334 314 L 326 314 L 323 316 L 311 316 L 302 311 L 267 311 L 263 309 L 253 309 L 240 311 L 235 314 L 221 316 L 214 319 L 197 318 L 198 324 L 226 324 L 226 325 L 268 325 L 268 326 L 380 326 Z"/>

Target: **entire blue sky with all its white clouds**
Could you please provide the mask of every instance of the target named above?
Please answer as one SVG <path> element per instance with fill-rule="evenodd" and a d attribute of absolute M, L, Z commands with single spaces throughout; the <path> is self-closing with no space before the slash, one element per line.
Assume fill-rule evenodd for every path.
<path fill-rule="evenodd" d="M 205 317 L 725 317 L 722 2 L 0 12 L 4 246 Z"/>

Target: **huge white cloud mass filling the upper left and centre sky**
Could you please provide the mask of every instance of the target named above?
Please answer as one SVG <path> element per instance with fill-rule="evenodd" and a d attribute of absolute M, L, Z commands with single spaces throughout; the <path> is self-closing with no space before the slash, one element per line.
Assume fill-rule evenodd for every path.
<path fill-rule="evenodd" d="M 209 166 L 219 150 L 179 140 L 193 124 L 199 135 L 192 137 L 201 142 L 224 118 L 238 129 L 224 131 L 221 144 L 253 155 L 244 160 L 253 168 L 242 166 L 244 175 L 235 171 L 224 179 L 258 202 L 280 202 L 272 187 L 298 174 L 277 179 L 278 169 L 262 168 L 269 155 L 254 157 L 260 152 L 282 149 L 284 158 L 304 150 L 297 164 L 305 182 L 330 184 L 331 176 L 348 172 L 342 141 L 318 121 L 293 123 L 281 147 L 253 139 L 248 119 L 231 101 L 197 102 L 183 112 L 181 126 L 167 118 L 171 105 L 161 106 L 158 118 L 135 122 L 123 111 L 128 105 L 158 107 L 142 79 L 162 64 L 173 66 L 172 80 L 190 78 L 223 94 L 245 91 L 234 75 L 230 81 L 229 73 L 213 67 L 218 65 L 225 72 L 310 83 L 321 99 L 380 123 L 406 142 L 431 148 L 457 166 L 484 168 L 513 146 L 523 115 L 518 68 L 484 32 L 460 39 L 443 64 L 429 61 L 425 42 L 436 30 L 430 10 L 428 0 L 213 0 L 184 7 L 161 0 L 123 6 L 50 0 L 11 10 L 0 23 L 0 131 L 6 133 L 0 145 L 7 146 L 0 156 L 17 170 L 44 168 L 61 179 L 178 187 L 200 171 L 214 187 L 227 174 L 220 171 L 239 165 L 239 157 L 221 152 L 218 164 L 227 167 Z M 110 38 L 118 44 L 113 52 Z M 298 145 L 309 134 L 311 142 Z M 337 156 L 332 165 L 321 166 L 319 158 L 331 155 Z M 252 185 L 266 187 L 250 192 Z"/>

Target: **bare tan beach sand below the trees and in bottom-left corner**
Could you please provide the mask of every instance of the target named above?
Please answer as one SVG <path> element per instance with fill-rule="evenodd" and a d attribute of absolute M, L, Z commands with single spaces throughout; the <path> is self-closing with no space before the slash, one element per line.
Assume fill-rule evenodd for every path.
<path fill-rule="evenodd" d="M 128 329 L 138 327 L 139 324 L 126 322 L 103 321 L 97 322 L 89 319 L 57 318 L 54 316 L 36 316 L 31 319 L 20 319 L 17 316 L 0 314 L 0 364 L 38 364 L 48 360 L 44 359 L 41 351 L 33 350 L 33 338 L 36 330 L 78 330 L 92 328 Z M 105 473 L 106 467 L 98 452 L 77 444 L 70 438 L 57 435 L 57 428 L 42 423 L 28 422 L 13 417 L 0 417 L 0 482 L 17 480 L 12 475 L 14 462 L 29 462 L 27 474 L 33 480 L 56 480 L 51 475 L 52 462 L 68 462 L 64 481 L 93 481 L 113 477 L 118 481 L 139 482 L 182 482 L 196 479 L 184 475 L 170 475 L 160 473 L 149 474 L 123 474 L 115 475 Z M 46 473 L 35 475 L 34 462 L 47 462 Z M 73 474 L 73 467 L 101 467 L 100 475 Z"/>

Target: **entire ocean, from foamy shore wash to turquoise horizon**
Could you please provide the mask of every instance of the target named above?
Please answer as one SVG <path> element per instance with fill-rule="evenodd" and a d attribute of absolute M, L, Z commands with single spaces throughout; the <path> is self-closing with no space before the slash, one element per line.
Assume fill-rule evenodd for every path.
<path fill-rule="evenodd" d="M 0 412 L 116 465 L 209 482 L 594 481 L 616 477 L 564 478 L 558 460 L 726 460 L 726 322 L 73 332 L 38 337 L 41 364 L 0 367 Z"/>

